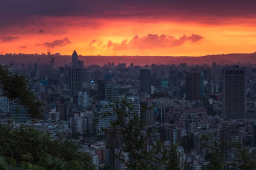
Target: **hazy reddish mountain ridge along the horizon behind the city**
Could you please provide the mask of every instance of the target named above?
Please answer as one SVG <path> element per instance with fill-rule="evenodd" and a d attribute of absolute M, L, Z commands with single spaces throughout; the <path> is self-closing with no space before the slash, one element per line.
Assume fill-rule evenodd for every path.
<path fill-rule="evenodd" d="M 79 53 L 79 52 L 77 52 Z M 49 64 L 51 57 L 56 60 L 56 66 L 64 66 L 71 62 L 71 55 L 33 55 L 33 54 L 19 54 L 19 55 L 0 55 L 1 64 L 7 64 L 10 62 L 14 63 L 24 63 L 31 64 L 35 63 L 38 59 L 40 62 Z M 79 60 L 83 60 L 86 66 L 97 64 L 104 65 L 108 62 L 126 63 L 127 65 L 131 62 L 135 65 L 146 65 L 146 64 L 180 64 L 181 62 L 186 62 L 188 65 L 191 64 L 211 64 L 216 62 L 217 64 L 246 64 L 250 62 L 251 64 L 256 64 L 256 52 L 254 53 L 229 53 L 229 54 L 218 54 L 218 55 L 205 55 L 202 57 L 172 57 L 172 56 L 83 56 L 79 55 Z"/>

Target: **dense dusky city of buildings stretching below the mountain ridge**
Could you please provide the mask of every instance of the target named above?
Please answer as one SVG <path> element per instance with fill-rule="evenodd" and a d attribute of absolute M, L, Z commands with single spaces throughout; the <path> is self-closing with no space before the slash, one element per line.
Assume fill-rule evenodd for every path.
<path fill-rule="evenodd" d="M 48 64 L 38 60 L 10 67 L 13 73 L 35 80 L 30 83 L 31 90 L 44 101 L 44 117 L 32 121 L 26 107 L 1 97 L 1 124 L 31 125 L 52 140 L 67 138 L 79 143 L 79 150 L 92 156 L 96 169 L 127 169 L 110 150 L 118 151 L 125 136 L 118 137 L 120 142 L 103 131 L 117 118 L 108 106 L 125 99 L 143 120 L 143 131 L 156 131 L 145 147 L 156 141 L 177 144 L 186 169 L 205 169 L 209 164 L 206 157 L 211 150 L 203 146 L 205 135 L 211 141 L 225 142 L 226 169 L 235 168 L 228 164 L 237 156 L 232 143 L 240 142 L 250 152 L 256 151 L 255 64 L 220 65 L 216 61 L 136 66 L 109 61 L 104 66 L 85 67 L 77 53 L 74 51 L 71 62 L 61 67 L 56 66 L 54 55 Z M 105 112 L 112 114 L 99 116 Z M 129 160 L 129 155 L 125 157 Z"/>

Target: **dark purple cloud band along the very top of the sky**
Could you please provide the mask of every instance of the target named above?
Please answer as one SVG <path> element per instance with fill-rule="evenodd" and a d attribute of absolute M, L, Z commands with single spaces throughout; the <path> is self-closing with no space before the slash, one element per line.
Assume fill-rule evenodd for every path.
<path fill-rule="evenodd" d="M 207 15 L 248 16 L 255 15 L 256 1 L 248 0 L 2 0 L 0 16 L 131 16 L 131 15 Z M 129 12 L 133 11 L 133 12 Z M 137 11 L 134 13 L 134 11 Z M 150 11 L 150 12 L 149 12 Z M 116 16 L 116 14 L 118 14 Z"/>

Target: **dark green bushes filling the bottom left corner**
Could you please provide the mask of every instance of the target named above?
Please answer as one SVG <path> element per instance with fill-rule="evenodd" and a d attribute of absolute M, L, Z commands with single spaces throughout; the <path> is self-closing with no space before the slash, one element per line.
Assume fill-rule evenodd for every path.
<path fill-rule="evenodd" d="M 2 169 L 94 169 L 92 157 L 75 143 L 52 141 L 32 127 L 0 125 L 0 143 Z"/>

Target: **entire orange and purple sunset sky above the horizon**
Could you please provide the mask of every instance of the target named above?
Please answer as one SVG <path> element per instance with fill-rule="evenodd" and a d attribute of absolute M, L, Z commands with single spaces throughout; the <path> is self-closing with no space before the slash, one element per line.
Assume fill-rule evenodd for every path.
<path fill-rule="evenodd" d="M 252 53 L 255 9 L 251 0 L 1 0 L 0 53 Z"/>

